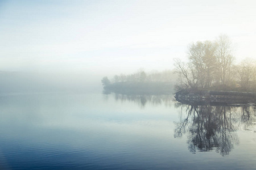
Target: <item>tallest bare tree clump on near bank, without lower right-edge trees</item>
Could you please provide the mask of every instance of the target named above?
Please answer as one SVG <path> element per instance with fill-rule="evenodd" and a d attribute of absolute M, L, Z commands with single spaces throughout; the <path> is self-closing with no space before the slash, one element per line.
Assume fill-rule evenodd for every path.
<path fill-rule="evenodd" d="M 221 35 L 216 41 L 194 42 L 188 46 L 187 53 L 188 63 L 175 60 L 180 88 L 209 88 L 219 84 L 231 86 L 234 57 L 228 36 Z"/>

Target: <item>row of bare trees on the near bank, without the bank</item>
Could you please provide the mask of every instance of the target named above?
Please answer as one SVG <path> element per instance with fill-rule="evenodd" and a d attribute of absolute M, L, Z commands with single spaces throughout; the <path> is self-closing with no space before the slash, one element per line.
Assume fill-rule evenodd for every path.
<path fill-rule="evenodd" d="M 215 41 L 197 41 L 188 46 L 187 62 L 175 59 L 179 75 L 176 90 L 212 89 L 256 91 L 256 67 L 251 58 L 235 65 L 232 42 L 226 35 Z"/>

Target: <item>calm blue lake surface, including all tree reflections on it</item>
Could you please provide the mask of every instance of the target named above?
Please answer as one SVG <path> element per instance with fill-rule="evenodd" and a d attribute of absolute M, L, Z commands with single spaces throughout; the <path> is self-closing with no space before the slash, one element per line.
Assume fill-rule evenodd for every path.
<path fill-rule="evenodd" d="M 256 107 L 171 95 L 0 96 L 0 169 L 254 169 Z"/>

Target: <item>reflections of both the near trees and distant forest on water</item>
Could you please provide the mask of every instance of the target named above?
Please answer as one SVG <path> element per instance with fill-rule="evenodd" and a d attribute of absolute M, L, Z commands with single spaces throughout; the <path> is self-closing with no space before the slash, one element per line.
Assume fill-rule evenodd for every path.
<path fill-rule="evenodd" d="M 188 148 L 196 151 L 216 151 L 222 156 L 229 155 L 234 145 L 239 144 L 237 130 L 255 128 L 255 105 L 191 105 L 174 102 L 173 95 L 113 94 L 117 101 L 132 101 L 145 107 L 164 104 L 180 108 L 180 121 L 175 123 L 175 138 L 188 136 Z M 108 100 L 108 97 L 106 97 Z M 254 131 L 256 132 L 256 131 Z"/>

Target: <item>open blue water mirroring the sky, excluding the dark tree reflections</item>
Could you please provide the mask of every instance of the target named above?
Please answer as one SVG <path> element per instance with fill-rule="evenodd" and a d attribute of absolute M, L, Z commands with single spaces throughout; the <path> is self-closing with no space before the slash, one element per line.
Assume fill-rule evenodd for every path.
<path fill-rule="evenodd" d="M 137 101 L 105 97 L 1 97 L 2 164 L 14 169 L 250 169 L 255 165 L 247 162 L 255 158 L 255 141 L 250 141 L 254 133 L 246 137 L 237 131 L 240 144 L 225 159 L 216 152 L 193 155 L 188 151 L 187 134 L 174 138 L 180 107 L 150 101 L 141 107 Z"/>

